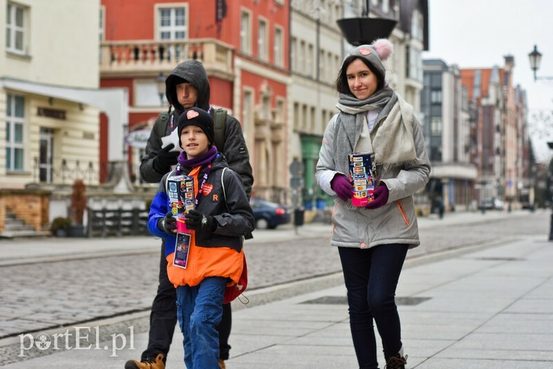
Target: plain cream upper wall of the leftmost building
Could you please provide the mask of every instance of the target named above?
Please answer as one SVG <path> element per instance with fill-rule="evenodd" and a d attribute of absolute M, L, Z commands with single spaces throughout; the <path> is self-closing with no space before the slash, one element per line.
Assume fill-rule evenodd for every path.
<path fill-rule="evenodd" d="M 15 3 L 28 8 L 28 55 L 6 53 L 7 0 L 0 0 L 0 77 L 97 88 L 100 0 Z"/>

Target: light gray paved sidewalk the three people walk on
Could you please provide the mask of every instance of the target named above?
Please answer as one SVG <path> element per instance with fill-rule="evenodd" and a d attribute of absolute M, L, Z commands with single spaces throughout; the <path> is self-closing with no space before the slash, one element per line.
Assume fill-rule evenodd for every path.
<path fill-rule="evenodd" d="M 447 218 L 421 219 L 420 225 L 453 221 Z M 397 303 L 407 367 L 552 368 L 551 265 L 553 243 L 545 235 L 406 261 Z M 318 281 L 327 278 L 339 275 Z M 266 290 L 247 297 L 255 301 Z M 345 296 L 339 286 L 252 308 L 239 308 L 235 301 L 227 368 L 357 368 Z M 181 335 L 175 333 L 169 369 L 184 367 Z M 109 340 L 100 343 L 105 350 L 65 350 L 5 368 L 121 369 L 126 359 L 140 357 L 147 333 L 134 334 L 134 350 L 129 341 L 118 357 L 110 357 Z"/>

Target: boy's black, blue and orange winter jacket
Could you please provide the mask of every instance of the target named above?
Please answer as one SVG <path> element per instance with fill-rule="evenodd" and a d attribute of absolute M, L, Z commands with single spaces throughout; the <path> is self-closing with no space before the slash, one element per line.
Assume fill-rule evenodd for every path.
<path fill-rule="evenodd" d="M 243 269 L 243 235 L 254 230 L 254 214 L 238 174 L 231 169 L 224 173 L 225 195 L 221 183 L 223 168 L 228 168 L 221 153 L 212 162 L 209 178 L 203 188 L 196 210 L 213 216 L 218 225 L 215 231 L 189 229 L 191 234 L 186 269 L 174 265 L 176 236 L 169 235 L 158 228 L 158 220 L 169 211 L 166 182 L 174 173 L 163 176 L 158 192 L 153 197 L 148 216 L 148 228 L 151 234 L 166 238 L 165 257 L 167 275 L 175 286 L 198 285 L 209 276 L 222 276 L 238 283 Z M 198 191 L 198 178 L 203 177 L 205 167 L 194 175 L 194 191 Z M 192 168 L 181 169 L 180 173 L 189 174 Z"/>

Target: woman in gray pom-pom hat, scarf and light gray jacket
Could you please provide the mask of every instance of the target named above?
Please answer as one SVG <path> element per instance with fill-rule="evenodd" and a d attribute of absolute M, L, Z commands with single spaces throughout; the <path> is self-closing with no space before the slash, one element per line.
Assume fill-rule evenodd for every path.
<path fill-rule="evenodd" d="M 336 81 L 339 113 L 326 127 L 317 183 L 337 196 L 330 243 L 337 246 L 359 368 L 378 368 L 373 321 L 385 368 L 405 368 L 395 290 L 407 250 L 420 244 L 413 193 L 429 180 L 430 163 L 413 107 L 384 79 L 393 51 L 387 39 L 351 50 Z M 353 206 L 348 155 L 374 153 L 374 200 Z"/>

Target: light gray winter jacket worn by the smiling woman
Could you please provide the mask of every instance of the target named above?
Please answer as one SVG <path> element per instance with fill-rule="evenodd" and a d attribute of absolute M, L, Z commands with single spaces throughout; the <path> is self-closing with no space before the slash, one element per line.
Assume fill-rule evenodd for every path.
<path fill-rule="evenodd" d="M 335 154 L 332 151 L 335 134 L 335 115 L 328 122 L 324 133 L 323 144 L 317 162 L 317 183 L 328 194 L 336 193 L 330 188 L 330 181 L 336 171 Z M 420 164 L 396 166 L 384 171 L 377 163 L 377 176 L 389 189 L 388 202 L 378 209 L 353 207 L 350 200 L 343 202 L 336 198 L 332 215 L 334 231 L 331 245 L 339 247 L 368 248 L 390 243 L 408 244 L 409 247 L 420 245 L 417 216 L 413 205 L 413 193 L 427 184 L 430 175 L 422 126 L 413 119 L 413 140 Z M 344 144 L 347 144 L 344 142 Z M 348 158 L 339 158 L 348 160 Z M 343 173 L 348 176 L 348 173 Z"/>

